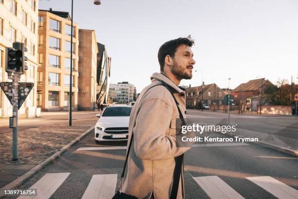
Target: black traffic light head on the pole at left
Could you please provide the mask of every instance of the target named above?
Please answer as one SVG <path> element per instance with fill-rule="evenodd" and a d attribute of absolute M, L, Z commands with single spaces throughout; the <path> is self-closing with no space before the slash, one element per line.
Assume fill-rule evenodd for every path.
<path fill-rule="evenodd" d="M 28 67 L 25 64 L 27 61 L 27 57 L 24 56 L 25 51 L 27 49 L 24 47 L 23 43 L 14 42 L 13 48 L 6 47 L 5 48 L 5 71 L 12 75 L 12 73 L 22 75 L 25 73 L 25 70 Z"/>

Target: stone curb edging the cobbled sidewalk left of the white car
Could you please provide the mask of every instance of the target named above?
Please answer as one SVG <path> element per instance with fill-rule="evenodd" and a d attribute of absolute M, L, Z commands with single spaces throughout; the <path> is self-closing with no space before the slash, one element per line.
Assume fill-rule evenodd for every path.
<path fill-rule="evenodd" d="M 89 128 L 87 131 L 85 131 L 83 134 L 63 146 L 59 151 L 57 151 L 55 154 L 50 156 L 49 158 L 45 159 L 41 163 L 37 164 L 35 167 L 33 167 L 31 170 L 20 176 L 19 178 L 15 179 L 14 181 L 10 182 L 9 184 L 6 184 L 5 186 L 0 188 L 1 190 L 12 190 L 17 187 L 19 187 L 22 183 L 30 179 L 34 174 L 36 174 L 39 170 L 44 168 L 46 165 L 48 165 L 50 162 L 54 161 L 56 158 L 60 157 L 65 151 L 67 151 L 69 148 L 71 148 L 73 145 L 75 145 L 78 141 L 83 139 L 85 136 L 87 136 L 89 133 L 91 133 L 94 130 L 94 127 Z M 4 196 L 4 193 L 0 192 L 0 199 L 2 199 Z"/>

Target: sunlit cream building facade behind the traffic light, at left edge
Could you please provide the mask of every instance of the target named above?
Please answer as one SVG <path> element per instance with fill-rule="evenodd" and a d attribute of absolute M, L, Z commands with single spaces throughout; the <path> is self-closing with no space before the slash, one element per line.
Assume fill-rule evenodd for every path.
<path fill-rule="evenodd" d="M 14 41 L 25 43 L 28 70 L 20 82 L 33 82 L 34 88 L 19 109 L 19 114 L 34 117 L 37 107 L 37 19 L 38 0 L 0 0 L 0 81 L 11 81 L 5 72 L 5 47 Z M 0 117 L 12 115 L 12 105 L 0 91 Z"/>

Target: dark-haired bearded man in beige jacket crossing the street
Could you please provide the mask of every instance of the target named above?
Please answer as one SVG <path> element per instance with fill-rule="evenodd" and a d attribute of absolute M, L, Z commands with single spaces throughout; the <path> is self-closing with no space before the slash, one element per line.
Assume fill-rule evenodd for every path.
<path fill-rule="evenodd" d="M 176 147 L 177 105 L 162 85 L 165 82 L 179 102 L 184 118 L 186 92 L 178 87 L 183 79 L 192 78 L 195 64 L 191 38 L 178 38 L 164 43 L 158 52 L 161 73 L 151 76 L 135 102 L 129 123 L 129 141 L 133 133 L 127 172 L 122 192 L 138 199 L 168 199 L 171 193 L 175 157 L 189 148 Z M 180 178 L 178 199 L 184 197 L 183 176 Z"/>

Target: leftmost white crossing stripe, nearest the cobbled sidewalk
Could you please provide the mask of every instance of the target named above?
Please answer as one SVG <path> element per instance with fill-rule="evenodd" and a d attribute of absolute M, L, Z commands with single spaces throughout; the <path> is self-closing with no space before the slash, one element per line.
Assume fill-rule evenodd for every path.
<path fill-rule="evenodd" d="M 29 189 L 37 189 L 37 196 L 20 196 L 18 199 L 49 199 L 70 173 L 50 173 L 44 175 Z"/>

